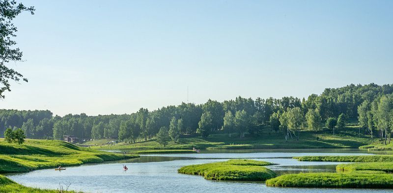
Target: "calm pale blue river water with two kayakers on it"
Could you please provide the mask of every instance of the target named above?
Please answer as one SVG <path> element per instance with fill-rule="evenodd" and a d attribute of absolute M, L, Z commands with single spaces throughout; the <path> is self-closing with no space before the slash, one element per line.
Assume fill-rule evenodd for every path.
<path fill-rule="evenodd" d="M 116 150 L 112 150 L 116 151 Z M 42 169 L 27 173 L 8 174 L 12 180 L 30 187 L 58 189 L 59 184 L 71 184 L 70 189 L 91 193 L 130 192 L 198 192 L 198 193 L 315 193 L 315 192 L 390 192 L 370 189 L 272 188 L 263 182 L 233 182 L 205 180 L 201 176 L 177 173 L 182 166 L 225 161 L 231 158 L 263 160 L 278 165 L 268 168 L 282 173 L 335 172 L 339 162 L 299 162 L 291 157 L 304 155 L 365 155 L 359 149 L 250 149 L 204 150 L 197 154 L 155 154 L 140 158 L 67 167 L 55 171 Z M 122 165 L 128 171 L 123 171 Z"/>

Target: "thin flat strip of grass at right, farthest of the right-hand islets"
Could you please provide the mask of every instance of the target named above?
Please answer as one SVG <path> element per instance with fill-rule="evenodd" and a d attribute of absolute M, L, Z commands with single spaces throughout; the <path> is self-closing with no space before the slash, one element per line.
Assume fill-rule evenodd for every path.
<path fill-rule="evenodd" d="M 301 156 L 294 159 L 311 162 L 393 162 L 393 155 Z"/>

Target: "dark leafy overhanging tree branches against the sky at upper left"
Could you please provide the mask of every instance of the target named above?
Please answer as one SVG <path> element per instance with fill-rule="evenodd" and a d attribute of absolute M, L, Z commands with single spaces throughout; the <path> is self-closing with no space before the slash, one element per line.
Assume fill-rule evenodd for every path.
<path fill-rule="evenodd" d="M 34 14 L 35 9 L 15 0 L 0 0 L 0 10 L 0 98 L 4 98 L 4 91 L 11 91 L 9 80 L 18 82 L 22 78 L 23 81 L 28 81 L 21 73 L 6 66 L 10 61 L 22 60 L 22 51 L 15 48 L 16 42 L 13 39 L 16 37 L 17 28 L 12 21 L 23 11 Z"/>

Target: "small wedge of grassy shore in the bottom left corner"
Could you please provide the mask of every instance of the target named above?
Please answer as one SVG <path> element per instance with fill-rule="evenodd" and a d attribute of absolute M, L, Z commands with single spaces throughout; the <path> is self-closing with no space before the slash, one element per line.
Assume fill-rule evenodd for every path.
<path fill-rule="evenodd" d="M 0 175 L 0 193 L 59 193 L 59 191 L 29 188 Z M 68 193 L 74 193 L 74 191 L 68 191 Z"/>

